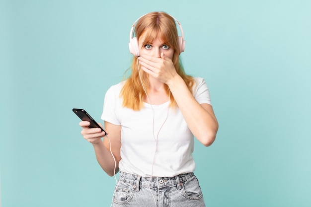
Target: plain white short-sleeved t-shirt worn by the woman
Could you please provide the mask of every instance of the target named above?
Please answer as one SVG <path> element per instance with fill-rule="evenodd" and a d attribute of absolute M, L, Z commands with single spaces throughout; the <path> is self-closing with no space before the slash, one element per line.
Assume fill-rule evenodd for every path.
<path fill-rule="evenodd" d="M 195 99 L 200 104 L 211 104 L 205 80 L 196 77 L 195 82 Z M 194 138 L 180 110 L 169 108 L 169 102 L 152 106 L 145 103 L 140 111 L 124 108 L 122 86 L 121 82 L 108 89 L 101 116 L 104 121 L 121 125 L 120 171 L 142 177 L 193 172 Z"/>

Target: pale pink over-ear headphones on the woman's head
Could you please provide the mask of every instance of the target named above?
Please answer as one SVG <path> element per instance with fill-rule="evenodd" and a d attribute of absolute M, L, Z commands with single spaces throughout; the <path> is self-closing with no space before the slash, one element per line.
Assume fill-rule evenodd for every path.
<path fill-rule="evenodd" d="M 146 14 L 144 14 L 143 16 L 145 16 Z M 134 27 L 136 25 L 136 22 L 142 18 L 143 16 L 139 17 L 133 24 L 132 28 L 131 28 L 131 32 L 130 32 L 130 43 L 129 43 L 129 48 L 130 48 L 130 53 L 133 54 L 134 56 L 136 57 L 139 57 L 140 56 L 140 53 L 139 53 L 139 48 L 138 48 L 138 41 L 137 41 L 137 37 L 133 37 L 133 30 L 134 30 Z M 183 33 L 183 30 L 182 30 L 182 27 L 181 27 L 181 24 L 179 23 L 179 21 L 171 16 L 179 25 L 179 28 L 180 28 L 180 31 L 181 31 L 181 36 L 178 36 L 178 45 L 179 45 L 179 55 L 180 53 L 184 52 L 185 51 L 185 44 L 186 44 L 186 41 L 184 40 L 184 33 Z"/>

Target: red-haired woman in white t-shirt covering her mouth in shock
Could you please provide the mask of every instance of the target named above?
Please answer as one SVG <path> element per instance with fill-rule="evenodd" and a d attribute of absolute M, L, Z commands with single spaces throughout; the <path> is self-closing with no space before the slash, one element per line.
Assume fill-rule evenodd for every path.
<path fill-rule="evenodd" d="M 132 73 L 105 95 L 101 118 L 109 138 L 80 122 L 102 169 L 120 171 L 115 207 L 205 206 L 193 174 L 194 137 L 211 145 L 218 122 L 204 79 L 186 75 L 179 62 L 184 40 L 175 20 L 151 12 L 133 24 Z"/>

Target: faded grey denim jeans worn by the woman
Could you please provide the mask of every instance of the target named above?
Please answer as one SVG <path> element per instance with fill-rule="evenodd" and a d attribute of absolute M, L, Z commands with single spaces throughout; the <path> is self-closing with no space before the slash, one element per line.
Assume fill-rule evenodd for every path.
<path fill-rule="evenodd" d="M 193 173 L 172 178 L 144 178 L 120 172 L 113 207 L 205 207 Z"/>

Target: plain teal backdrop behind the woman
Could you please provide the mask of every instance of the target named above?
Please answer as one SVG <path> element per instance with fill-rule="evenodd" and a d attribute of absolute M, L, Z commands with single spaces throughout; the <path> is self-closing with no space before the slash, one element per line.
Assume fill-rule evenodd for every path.
<path fill-rule="evenodd" d="M 71 110 L 100 121 L 150 11 L 181 22 L 184 67 L 211 91 L 218 136 L 194 153 L 207 206 L 310 207 L 310 0 L 0 0 L 2 207 L 110 206 Z"/>

